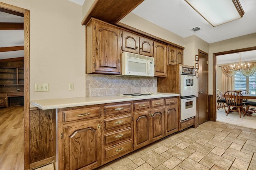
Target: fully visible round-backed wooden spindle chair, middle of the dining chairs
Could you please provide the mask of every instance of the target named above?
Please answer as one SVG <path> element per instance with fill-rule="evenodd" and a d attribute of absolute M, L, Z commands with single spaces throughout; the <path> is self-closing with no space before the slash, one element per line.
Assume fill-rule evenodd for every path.
<path fill-rule="evenodd" d="M 239 117 L 241 118 L 241 111 L 244 113 L 244 108 L 243 108 L 243 95 L 242 93 L 239 93 L 238 91 L 227 91 L 224 94 L 224 98 L 226 100 L 226 104 L 228 105 L 228 111 L 227 111 L 227 116 L 230 111 L 238 111 Z M 231 108 L 232 107 L 232 108 Z"/>

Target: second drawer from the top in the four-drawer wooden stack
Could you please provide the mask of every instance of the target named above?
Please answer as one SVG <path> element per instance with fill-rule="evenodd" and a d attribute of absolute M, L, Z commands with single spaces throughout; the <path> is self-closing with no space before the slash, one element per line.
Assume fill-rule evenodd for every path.
<path fill-rule="evenodd" d="M 124 125 L 131 125 L 131 122 L 132 122 L 131 115 L 105 119 L 104 121 L 105 130 L 121 127 Z"/>

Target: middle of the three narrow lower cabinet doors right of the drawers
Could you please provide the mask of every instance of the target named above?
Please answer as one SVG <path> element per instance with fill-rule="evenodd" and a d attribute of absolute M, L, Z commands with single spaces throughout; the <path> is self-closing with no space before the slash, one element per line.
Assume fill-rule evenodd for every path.
<path fill-rule="evenodd" d="M 164 137 L 164 108 L 151 111 L 152 117 L 152 141 Z"/>

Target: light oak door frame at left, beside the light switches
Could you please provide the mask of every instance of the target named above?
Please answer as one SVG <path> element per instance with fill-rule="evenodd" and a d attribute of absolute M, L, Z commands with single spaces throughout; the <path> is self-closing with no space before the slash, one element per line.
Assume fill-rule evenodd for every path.
<path fill-rule="evenodd" d="M 30 96 L 29 96 L 29 59 L 30 59 L 30 11 L 0 2 L 0 8 L 24 15 L 24 169 L 30 165 Z"/>

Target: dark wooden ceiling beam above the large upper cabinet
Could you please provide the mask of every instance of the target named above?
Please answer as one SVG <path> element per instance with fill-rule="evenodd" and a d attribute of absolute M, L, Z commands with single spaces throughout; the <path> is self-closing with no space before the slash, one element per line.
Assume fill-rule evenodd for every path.
<path fill-rule="evenodd" d="M 91 17 L 116 24 L 144 0 L 95 0 L 82 20 L 86 25 Z"/>

